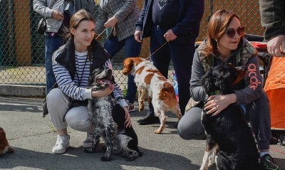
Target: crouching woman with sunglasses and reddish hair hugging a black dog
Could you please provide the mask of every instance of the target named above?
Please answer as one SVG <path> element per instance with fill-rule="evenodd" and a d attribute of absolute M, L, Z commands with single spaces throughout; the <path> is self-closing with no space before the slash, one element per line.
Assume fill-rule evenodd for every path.
<path fill-rule="evenodd" d="M 206 99 L 206 93 L 199 81 L 209 68 L 225 63 L 232 63 L 235 67 L 246 66 L 247 75 L 239 82 L 234 93 L 211 95 L 204 105 L 202 101 Z M 215 116 L 230 104 L 241 105 L 244 112 L 249 112 L 264 169 L 266 167 L 278 169 L 269 155 L 271 138 L 269 101 L 262 88 L 257 51 L 244 38 L 244 27 L 241 26 L 237 14 L 232 11 L 219 10 L 210 19 L 207 39 L 195 51 L 190 95 L 195 105 L 185 113 L 177 128 L 182 139 L 205 137 L 201 124 L 203 107 L 209 110 L 208 114 Z"/>

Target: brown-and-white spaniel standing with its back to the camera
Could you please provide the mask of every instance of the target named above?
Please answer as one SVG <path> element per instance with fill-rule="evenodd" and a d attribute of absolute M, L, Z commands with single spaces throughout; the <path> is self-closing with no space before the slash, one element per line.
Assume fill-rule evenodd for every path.
<path fill-rule="evenodd" d="M 152 102 L 155 115 L 160 117 L 160 127 L 155 134 L 160 134 L 165 128 L 165 113 L 170 110 L 182 117 L 180 107 L 176 100 L 175 90 L 150 60 L 143 58 L 126 58 L 124 60 L 123 74 L 132 74 L 135 77 L 135 84 L 138 87 L 139 111 L 144 109 L 144 100 L 147 97 L 148 103 Z"/>

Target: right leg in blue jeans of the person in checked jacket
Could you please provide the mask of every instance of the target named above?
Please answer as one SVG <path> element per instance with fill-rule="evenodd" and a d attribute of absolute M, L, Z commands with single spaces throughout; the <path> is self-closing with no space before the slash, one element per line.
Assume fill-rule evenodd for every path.
<path fill-rule="evenodd" d="M 140 55 L 140 48 L 142 43 L 135 41 L 134 36 L 129 36 L 125 38 L 125 58 L 138 57 Z M 137 93 L 137 86 L 135 85 L 134 76 L 128 75 L 128 91 L 127 96 L 125 97 L 128 100 L 129 112 L 135 111 L 134 102 L 135 95 Z"/>

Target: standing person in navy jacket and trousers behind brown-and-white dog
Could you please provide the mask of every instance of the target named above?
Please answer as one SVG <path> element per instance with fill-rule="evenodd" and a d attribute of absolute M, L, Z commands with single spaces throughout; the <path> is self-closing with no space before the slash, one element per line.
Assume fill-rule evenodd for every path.
<path fill-rule="evenodd" d="M 165 78 L 168 77 L 172 60 L 182 115 L 190 99 L 191 65 L 203 14 L 204 0 L 145 0 L 140 18 L 135 24 L 135 40 L 141 43 L 142 38 L 150 37 L 150 53 L 153 53 L 151 60 Z M 159 122 L 151 104 L 147 115 L 138 119 L 139 124 Z"/>

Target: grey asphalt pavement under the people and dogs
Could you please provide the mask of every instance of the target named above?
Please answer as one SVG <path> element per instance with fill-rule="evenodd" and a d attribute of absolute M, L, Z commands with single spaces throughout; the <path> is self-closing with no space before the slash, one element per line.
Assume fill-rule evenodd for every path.
<path fill-rule="evenodd" d="M 68 128 L 71 147 L 66 154 L 53 154 L 56 132 L 49 116 L 42 117 L 43 99 L 24 97 L 0 97 L 0 127 L 16 148 L 12 154 L 0 156 L 0 169 L 199 169 L 204 154 L 204 140 L 186 141 L 179 137 L 174 124 L 177 118 L 167 113 L 167 122 L 162 134 L 153 131 L 159 124 L 139 125 L 136 120 L 143 112 L 131 112 L 133 127 L 138 134 L 142 156 L 135 161 L 115 155 L 112 161 L 100 161 L 104 152 L 87 154 L 83 151 L 86 132 Z M 138 110 L 138 103 L 136 103 Z M 280 168 L 285 170 L 285 147 L 270 146 Z M 212 168 L 215 169 L 215 168 Z"/>

